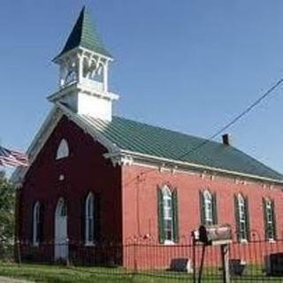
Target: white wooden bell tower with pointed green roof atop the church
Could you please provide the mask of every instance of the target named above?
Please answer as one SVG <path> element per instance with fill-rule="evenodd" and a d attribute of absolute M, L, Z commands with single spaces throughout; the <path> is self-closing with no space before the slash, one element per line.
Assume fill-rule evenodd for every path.
<path fill-rule="evenodd" d="M 65 47 L 53 61 L 59 65 L 59 82 L 49 101 L 65 103 L 80 115 L 111 120 L 112 102 L 119 99 L 108 89 L 113 58 L 104 48 L 85 7 Z"/>

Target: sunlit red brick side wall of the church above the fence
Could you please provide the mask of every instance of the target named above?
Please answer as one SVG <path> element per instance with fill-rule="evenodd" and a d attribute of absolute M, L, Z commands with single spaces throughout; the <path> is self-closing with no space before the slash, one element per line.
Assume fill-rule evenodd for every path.
<path fill-rule="evenodd" d="M 188 238 L 191 231 L 200 225 L 199 191 L 210 189 L 217 193 L 218 223 L 228 223 L 235 231 L 234 194 L 249 198 L 250 231 L 255 239 L 264 240 L 264 210 L 262 198 L 275 201 L 277 233 L 283 238 L 283 193 L 282 187 L 271 187 L 261 182 L 235 180 L 209 174 L 187 172 L 149 171 L 142 166 L 123 167 L 123 237 L 124 241 L 134 236 L 158 239 L 157 233 L 157 187 L 169 184 L 178 189 L 180 238 Z"/>

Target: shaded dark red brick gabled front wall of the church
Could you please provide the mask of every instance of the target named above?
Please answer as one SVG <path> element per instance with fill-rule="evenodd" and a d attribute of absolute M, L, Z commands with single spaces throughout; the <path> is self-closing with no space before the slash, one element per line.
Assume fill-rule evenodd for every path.
<path fill-rule="evenodd" d="M 65 139 L 70 157 L 56 160 L 57 147 Z M 103 157 L 106 149 L 63 117 L 50 135 L 41 153 L 27 173 L 19 194 L 19 240 L 32 240 L 32 209 L 36 201 L 44 204 L 43 242 L 54 241 L 54 218 L 57 201 L 65 199 L 70 243 L 81 239 L 81 207 L 90 191 L 101 194 L 101 238 L 121 238 L 121 172 Z M 59 176 L 64 175 L 64 180 Z"/>

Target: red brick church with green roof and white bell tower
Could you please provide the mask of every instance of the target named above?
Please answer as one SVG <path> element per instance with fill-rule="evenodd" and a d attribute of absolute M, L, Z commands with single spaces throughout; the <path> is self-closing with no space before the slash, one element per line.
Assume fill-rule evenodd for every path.
<path fill-rule="evenodd" d="M 200 224 L 230 224 L 244 243 L 282 237 L 283 176 L 228 135 L 204 142 L 114 116 L 112 61 L 83 9 L 54 59 L 59 85 L 30 164 L 12 176 L 22 256 L 57 261 L 140 240 L 174 247 Z"/>

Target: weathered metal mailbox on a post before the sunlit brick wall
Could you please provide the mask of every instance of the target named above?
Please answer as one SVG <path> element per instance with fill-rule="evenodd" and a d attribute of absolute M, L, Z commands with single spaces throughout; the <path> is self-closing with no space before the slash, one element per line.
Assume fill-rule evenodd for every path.
<path fill-rule="evenodd" d="M 232 229 L 227 224 L 200 226 L 194 235 L 196 241 L 201 241 L 206 245 L 225 245 L 232 242 Z"/>

